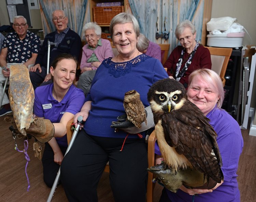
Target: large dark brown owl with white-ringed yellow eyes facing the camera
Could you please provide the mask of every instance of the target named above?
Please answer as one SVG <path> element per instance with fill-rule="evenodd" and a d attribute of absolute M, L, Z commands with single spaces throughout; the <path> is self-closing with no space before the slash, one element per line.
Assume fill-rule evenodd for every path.
<path fill-rule="evenodd" d="M 188 100 L 183 85 L 174 79 L 159 80 L 151 86 L 147 98 L 165 169 L 171 168 L 174 172 L 196 169 L 208 182 L 211 178 L 221 183 L 222 159 L 217 134 L 209 119 Z"/>

